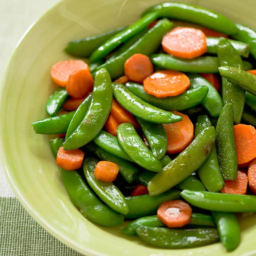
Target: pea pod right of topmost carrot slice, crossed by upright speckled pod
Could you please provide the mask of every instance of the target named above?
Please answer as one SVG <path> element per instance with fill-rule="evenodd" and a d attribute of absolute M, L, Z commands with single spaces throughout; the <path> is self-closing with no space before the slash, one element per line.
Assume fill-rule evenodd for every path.
<path fill-rule="evenodd" d="M 226 39 L 233 47 L 236 49 L 237 52 L 239 52 L 239 55 L 247 58 L 250 53 L 250 46 L 249 44 L 236 41 L 236 40 L 231 40 L 231 39 Z M 209 37 L 207 36 L 206 38 L 206 45 L 207 45 L 207 52 L 211 54 L 217 53 L 216 46 L 219 44 L 221 41 L 220 38 L 218 37 Z"/>

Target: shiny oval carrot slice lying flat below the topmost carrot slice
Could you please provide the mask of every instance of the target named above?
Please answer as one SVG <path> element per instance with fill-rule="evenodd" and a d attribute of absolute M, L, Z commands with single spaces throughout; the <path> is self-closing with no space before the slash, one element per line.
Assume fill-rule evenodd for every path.
<path fill-rule="evenodd" d="M 143 81 L 147 94 L 157 98 L 177 96 L 190 86 L 189 78 L 179 71 L 161 70 L 153 73 Z"/>

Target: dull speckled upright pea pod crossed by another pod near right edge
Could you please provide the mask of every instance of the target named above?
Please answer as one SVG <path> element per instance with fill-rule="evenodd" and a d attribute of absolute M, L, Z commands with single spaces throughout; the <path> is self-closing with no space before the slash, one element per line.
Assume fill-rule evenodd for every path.
<path fill-rule="evenodd" d="M 243 69 L 243 62 L 239 53 L 227 39 L 221 38 L 216 50 L 221 66 L 227 65 Z M 236 83 L 232 83 L 225 77 L 222 77 L 222 99 L 224 104 L 232 104 L 234 110 L 234 122 L 239 124 L 244 110 L 245 91 Z"/>

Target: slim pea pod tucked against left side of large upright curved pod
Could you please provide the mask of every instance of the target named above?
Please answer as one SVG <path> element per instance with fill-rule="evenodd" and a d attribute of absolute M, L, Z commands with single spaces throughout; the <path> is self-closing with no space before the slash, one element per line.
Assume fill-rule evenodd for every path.
<path fill-rule="evenodd" d="M 68 137 L 73 133 L 73 131 L 76 130 L 76 128 L 79 126 L 79 124 L 83 121 L 84 116 L 89 108 L 89 105 L 92 100 L 92 95 L 90 94 L 88 97 L 84 99 L 84 101 L 80 104 L 80 106 L 77 108 L 76 112 L 73 115 L 73 118 L 71 119 L 68 129 L 66 132 L 65 140 L 67 140 Z"/>

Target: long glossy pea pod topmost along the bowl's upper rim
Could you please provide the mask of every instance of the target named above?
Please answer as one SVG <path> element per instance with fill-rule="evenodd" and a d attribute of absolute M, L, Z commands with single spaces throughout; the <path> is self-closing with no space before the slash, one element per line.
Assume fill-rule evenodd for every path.
<path fill-rule="evenodd" d="M 237 33 L 236 25 L 227 17 L 212 10 L 185 3 L 161 3 L 144 11 L 143 15 L 158 12 L 159 17 L 185 20 L 196 23 L 227 35 Z"/>

